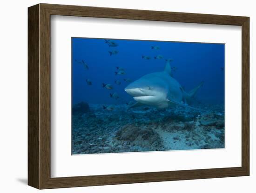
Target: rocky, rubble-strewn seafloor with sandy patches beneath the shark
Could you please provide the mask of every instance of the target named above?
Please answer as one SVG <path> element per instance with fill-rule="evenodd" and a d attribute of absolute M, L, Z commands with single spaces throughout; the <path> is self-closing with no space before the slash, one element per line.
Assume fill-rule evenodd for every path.
<path fill-rule="evenodd" d="M 108 106 L 108 105 L 107 105 Z M 159 111 L 89 104 L 72 117 L 72 154 L 224 148 L 224 105 Z"/>

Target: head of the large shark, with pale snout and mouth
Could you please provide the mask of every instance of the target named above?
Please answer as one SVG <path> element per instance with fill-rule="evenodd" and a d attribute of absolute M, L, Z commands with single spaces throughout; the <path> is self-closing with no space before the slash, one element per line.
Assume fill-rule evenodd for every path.
<path fill-rule="evenodd" d="M 161 78 L 148 74 L 132 82 L 124 89 L 135 101 L 146 105 L 157 105 L 166 101 L 168 88 Z"/>

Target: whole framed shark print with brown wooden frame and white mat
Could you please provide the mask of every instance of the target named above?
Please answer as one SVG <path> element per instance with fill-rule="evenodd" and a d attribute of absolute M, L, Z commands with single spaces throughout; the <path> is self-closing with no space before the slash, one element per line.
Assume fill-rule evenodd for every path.
<path fill-rule="evenodd" d="M 246 175 L 248 17 L 28 8 L 29 186 Z"/>

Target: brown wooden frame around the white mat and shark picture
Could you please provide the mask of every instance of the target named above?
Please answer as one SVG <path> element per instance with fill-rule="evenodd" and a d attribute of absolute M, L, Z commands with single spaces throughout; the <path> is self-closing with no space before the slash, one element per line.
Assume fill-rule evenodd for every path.
<path fill-rule="evenodd" d="M 51 15 L 242 26 L 242 167 L 51 178 Z M 38 4 L 28 8 L 28 185 L 99 186 L 249 175 L 249 17 Z"/>

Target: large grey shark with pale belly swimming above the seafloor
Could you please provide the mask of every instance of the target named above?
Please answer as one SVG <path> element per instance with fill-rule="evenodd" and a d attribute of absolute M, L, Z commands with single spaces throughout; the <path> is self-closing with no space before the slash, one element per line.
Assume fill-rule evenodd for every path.
<path fill-rule="evenodd" d="M 148 105 L 157 109 L 166 109 L 176 105 L 195 109 L 188 105 L 203 82 L 186 92 L 172 77 L 170 61 L 166 62 L 164 71 L 147 74 L 129 84 L 124 90 L 135 99 L 136 103 L 128 109 Z M 127 109 L 127 110 L 128 110 Z"/>

